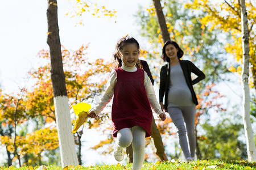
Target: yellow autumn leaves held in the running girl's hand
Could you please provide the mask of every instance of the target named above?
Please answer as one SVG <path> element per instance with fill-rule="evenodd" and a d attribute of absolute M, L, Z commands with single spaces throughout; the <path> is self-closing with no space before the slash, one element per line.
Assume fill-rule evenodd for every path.
<path fill-rule="evenodd" d="M 75 105 L 71 105 L 75 114 L 78 116 L 74 129 L 72 130 L 72 133 L 76 133 L 76 131 L 80 128 L 82 124 L 86 121 L 88 118 L 88 113 L 91 108 L 91 106 L 88 103 L 77 103 Z"/>

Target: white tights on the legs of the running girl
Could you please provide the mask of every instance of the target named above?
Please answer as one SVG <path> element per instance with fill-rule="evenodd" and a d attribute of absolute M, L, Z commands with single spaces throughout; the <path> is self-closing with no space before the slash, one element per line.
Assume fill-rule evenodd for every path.
<path fill-rule="evenodd" d="M 145 135 L 146 131 L 141 126 L 123 128 L 117 132 L 115 145 L 126 148 L 133 143 L 133 169 L 142 168 L 145 156 Z"/>

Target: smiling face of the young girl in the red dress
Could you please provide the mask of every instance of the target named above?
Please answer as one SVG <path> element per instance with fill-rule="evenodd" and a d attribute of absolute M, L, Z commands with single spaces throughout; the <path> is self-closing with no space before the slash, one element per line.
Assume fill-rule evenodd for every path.
<path fill-rule="evenodd" d="M 127 67 L 136 65 L 139 58 L 139 49 L 136 44 L 126 44 L 119 52 L 119 57 Z"/>

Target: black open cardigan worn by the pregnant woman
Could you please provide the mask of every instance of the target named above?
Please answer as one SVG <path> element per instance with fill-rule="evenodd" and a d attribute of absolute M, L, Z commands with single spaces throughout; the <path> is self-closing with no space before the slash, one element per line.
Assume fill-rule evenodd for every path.
<path fill-rule="evenodd" d="M 187 82 L 188 88 L 191 91 L 193 103 L 198 104 L 195 91 L 193 89 L 193 84 L 200 82 L 205 78 L 205 74 L 199 68 L 197 68 L 191 61 L 180 60 L 180 66 L 183 71 L 185 80 Z M 164 97 L 164 108 L 167 109 L 168 106 L 168 84 L 170 81 L 170 63 L 162 66 L 160 71 L 160 88 L 159 88 L 159 102 L 163 102 Z M 197 78 L 192 80 L 191 73 L 197 75 Z"/>

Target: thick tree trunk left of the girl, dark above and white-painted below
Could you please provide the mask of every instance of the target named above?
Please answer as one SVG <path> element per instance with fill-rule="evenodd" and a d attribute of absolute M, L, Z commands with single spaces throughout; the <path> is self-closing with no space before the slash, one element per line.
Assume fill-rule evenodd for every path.
<path fill-rule="evenodd" d="M 61 57 L 59 25 L 57 20 L 57 1 L 48 0 L 47 9 L 48 37 L 51 56 L 51 80 L 53 101 L 60 146 L 61 165 L 78 165 L 75 140 L 73 137 L 69 103 Z"/>

